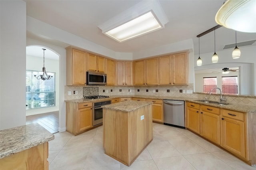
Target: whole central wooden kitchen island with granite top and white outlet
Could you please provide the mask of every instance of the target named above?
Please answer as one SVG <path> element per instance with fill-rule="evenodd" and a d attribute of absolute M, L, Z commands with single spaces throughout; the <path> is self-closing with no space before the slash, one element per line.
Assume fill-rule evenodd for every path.
<path fill-rule="evenodd" d="M 152 141 L 152 103 L 125 101 L 102 107 L 105 154 L 130 166 Z"/>

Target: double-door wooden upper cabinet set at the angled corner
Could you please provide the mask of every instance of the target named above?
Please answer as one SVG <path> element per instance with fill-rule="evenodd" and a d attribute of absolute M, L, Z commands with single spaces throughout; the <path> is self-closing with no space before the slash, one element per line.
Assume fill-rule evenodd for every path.
<path fill-rule="evenodd" d="M 132 61 L 117 61 L 117 85 L 132 85 Z"/>

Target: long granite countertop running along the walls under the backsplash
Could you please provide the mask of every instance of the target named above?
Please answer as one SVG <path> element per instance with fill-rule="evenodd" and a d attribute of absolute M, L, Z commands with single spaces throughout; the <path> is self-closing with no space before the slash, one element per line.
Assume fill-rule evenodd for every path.
<path fill-rule="evenodd" d="M 241 111 L 247 113 L 256 113 L 256 106 L 253 105 L 241 105 L 241 104 L 234 104 L 230 103 L 229 105 L 217 105 L 212 103 L 204 103 L 198 100 L 198 98 L 188 98 L 188 97 L 164 97 L 164 96 L 140 96 L 140 95 L 118 95 L 118 96 L 110 96 L 109 98 L 105 99 L 93 99 L 93 100 L 84 100 L 84 99 L 75 99 L 75 100 L 67 100 L 66 102 L 74 102 L 74 103 L 86 103 L 86 102 L 96 102 L 100 100 L 111 100 L 118 97 L 136 97 L 136 98 L 144 98 L 144 99 L 168 99 L 168 100 L 181 100 L 181 101 L 190 101 L 198 104 L 209 105 L 214 107 L 219 107 L 223 109 L 231 109 L 234 111 Z"/>

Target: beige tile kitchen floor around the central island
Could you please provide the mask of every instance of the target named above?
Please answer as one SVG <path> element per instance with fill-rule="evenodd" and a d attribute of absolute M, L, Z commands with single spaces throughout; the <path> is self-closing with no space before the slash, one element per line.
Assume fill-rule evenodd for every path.
<path fill-rule="evenodd" d="M 153 140 L 131 166 L 104 154 L 103 127 L 49 142 L 50 170 L 256 170 L 194 133 L 153 123 Z"/>

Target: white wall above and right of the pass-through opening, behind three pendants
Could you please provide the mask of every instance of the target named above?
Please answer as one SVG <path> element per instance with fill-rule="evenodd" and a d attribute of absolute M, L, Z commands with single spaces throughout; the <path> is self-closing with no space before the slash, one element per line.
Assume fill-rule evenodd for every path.
<path fill-rule="evenodd" d="M 226 49 L 223 51 L 216 51 L 219 57 L 218 63 L 212 63 L 212 53 L 200 54 L 202 59 L 202 66 L 196 66 L 198 55 L 194 57 L 194 69 L 208 69 L 208 68 L 224 68 L 240 66 L 241 73 L 241 94 L 256 95 L 256 46 L 239 47 L 241 56 L 238 59 L 232 59 L 233 49 Z"/>

